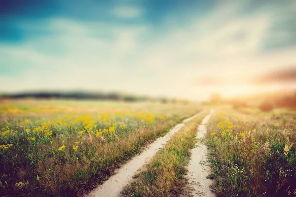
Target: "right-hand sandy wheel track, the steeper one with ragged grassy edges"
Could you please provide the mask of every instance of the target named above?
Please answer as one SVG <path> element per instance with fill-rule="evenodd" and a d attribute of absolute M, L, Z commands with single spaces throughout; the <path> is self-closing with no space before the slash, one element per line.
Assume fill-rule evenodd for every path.
<path fill-rule="evenodd" d="M 196 138 L 203 138 L 207 132 L 205 124 L 209 121 L 213 110 L 207 115 L 201 125 L 198 127 Z M 210 191 L 212 180 L 206 177 L 210 174 L 210 167 L 207 165 L 207 147 L 203 142 L 196 143 L 196 147 L 192 149 L 191 160 L 188 165 L 188 182 L 189 187 L 193 189 L 190 196 L 193 197 L 215 197 Z"/>

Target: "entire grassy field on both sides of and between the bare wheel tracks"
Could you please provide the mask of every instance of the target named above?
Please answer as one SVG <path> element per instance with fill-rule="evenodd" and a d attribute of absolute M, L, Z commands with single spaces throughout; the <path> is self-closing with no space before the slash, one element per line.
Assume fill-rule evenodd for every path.
<path fill-rule="evenodd" d="M 181 123 L 120 196 L 202 195 L 187 174 L 203 150 L 214 196 L 296 197 L 296 111 L 286 108 L 5 99 L 0 116 L 0 196 L 84 196 Z M 199 125 L 205 137 L 196 138 Z"/>

